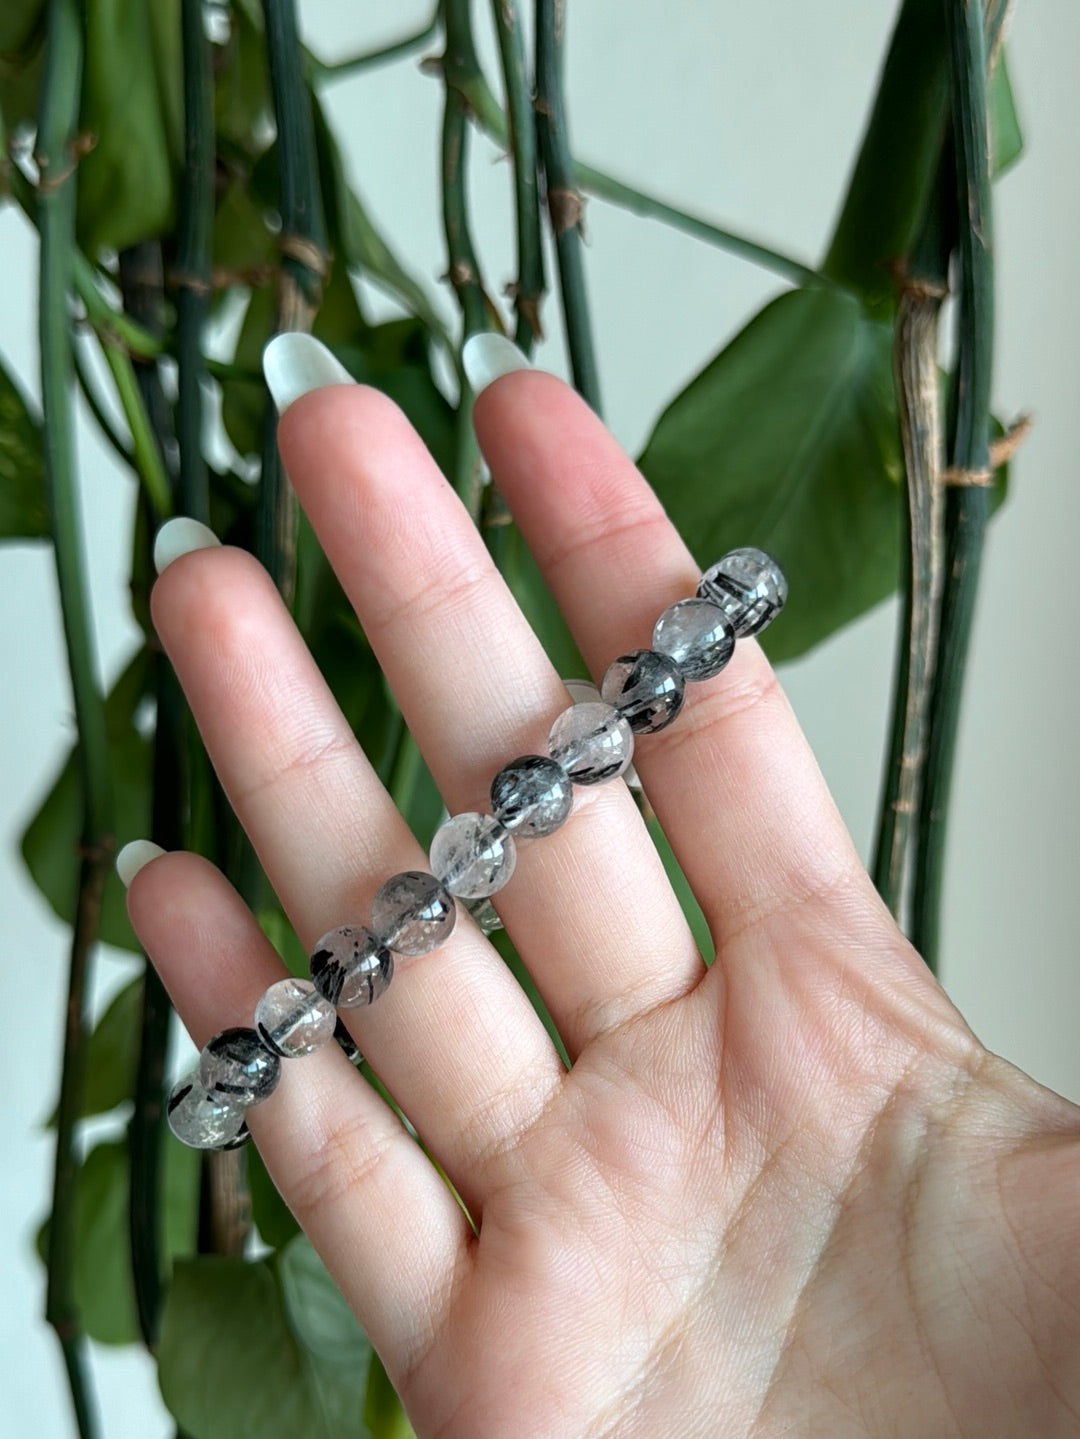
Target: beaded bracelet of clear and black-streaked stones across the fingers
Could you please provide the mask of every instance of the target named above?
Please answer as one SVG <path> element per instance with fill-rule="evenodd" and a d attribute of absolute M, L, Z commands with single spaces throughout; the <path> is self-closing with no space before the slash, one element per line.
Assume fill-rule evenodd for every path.
<path fill-rule="evenodd" d="M 358 1058 L 338 1010 L 374 1004 L 390 986 L 395 955 L 443 944 L 457 918 L 454 901 L 482 928 L 498 924 L 489 898 L 513 873 L 516 842 L 564 825 L 575 784 L 624 774 L 634 735 L 669 725 L 686 684 L 719 675 L 736 637 L 761 633 L 787 596 L 779 566 L 761 550 L 732 550 L 706 570 L 696 597 L 672 604 L 656 622 L 651 649 L 620 655 L 598 699 L 564 709 L 546 754 L 521 755 L 499 770 L 490 813 L 454 814 L 439 827 L 430 873 L 408 869 L 387 879 L 371 902 L 368 925 L 344 924 L 322 935 L 311 953 L 309 980 L 278 980 L 256 1004 L 253 1027 L 224 1029 L 209 1040 L 198 1068 L 168 1097 L 175 1137 L 193 1148 L 237 1148 L 250 1138 L 244 1111 L 273 1094 L 282 1059 L 311 1055 L 335 1038 Z"/>

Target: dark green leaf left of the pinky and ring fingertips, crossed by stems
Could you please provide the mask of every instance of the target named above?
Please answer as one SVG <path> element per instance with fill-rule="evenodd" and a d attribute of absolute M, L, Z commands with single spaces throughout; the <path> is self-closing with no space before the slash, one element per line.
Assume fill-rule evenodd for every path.
<path fill-rule="evenodd" d="M 135 728 L 135 711 L 147 694 L 148 679 L 147 653 L 139 650 L 105 701 L 114 820 L 122 840 L 150 833 L 151 747 Z M 66 924 L 75 920 L 81 832 L 82 802 L 72 751 L 22 842 L 30 878 Z M 111 865 L 105 878 L 99 937 L 122 950 L 139 950 L 128 921 L 124 885 Z"/>

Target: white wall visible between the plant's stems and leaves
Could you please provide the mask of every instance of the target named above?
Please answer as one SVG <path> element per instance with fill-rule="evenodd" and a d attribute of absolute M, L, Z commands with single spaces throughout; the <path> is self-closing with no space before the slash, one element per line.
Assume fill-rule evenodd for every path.
<path fill-rule="evenodd" d="M 358 7 L 302 0 L 309 43 L 351 53 L 420 20 L 427 0 Z M 365 13 L 367 12 L 367 13 Z M 894 0 L 577 0 L 569 6 L 577 151 L 781 249 L 820 256 L 860 132 Z M 486 27 L 486 7 L 477 6 Z M 999 414 L 1035 414 L 1012 496 L 988 545 L 961 735 L 945 920 L 945 983 L 975 1030 L 1080 1099 L 1080 663 L 1074 604 L 1080 479 L 1080 7 L 1024 0 L 1011 66 L 1028 150 L 998 187 Z M 354 177 L 413 268 L 444 269 L 437 201 L 440 92 L 413 62 L 334 91 Z M 493 282 L 512 272 L 508 168 L 477 147 L 477 232 Z M 590 279 L 610 422 L 634 452 L 653 417 L 775 281 L 600 203 L 588 212 Z M 0 351 L 36 389 L 35 245 L 0 212 Z M 450 312 L 449 301 L 446 302 Z M 555 328 L 555 307 L 548 308 Z M 541 363 L 564 366 L 558 337 Z M 104 672 L 135 630 L 127 614 L 131 481 L 89 426 L 86 532 Z M 50 555 L 0 550 L 0 915 L 13 1009 L 0 1046 L 0 1353 L 10 1433 L 72 1433 L 62 1368 L 42 1321 L 30 1243 L 45 1212 L 42 1121 L 59 1072 L 65 932 L 29 885 L 17 836 L 72 735 Z M 883 607 L 785 679 L 847 820 L 869 849 L 889 704 L 893 613 Z M 129 837 L 129 836 L 121 836 Z M 102 996 L 129 970 L 101 964 Z M 134 1351 L 95 1356 L 111 1439 L 171 1426 Z"/>

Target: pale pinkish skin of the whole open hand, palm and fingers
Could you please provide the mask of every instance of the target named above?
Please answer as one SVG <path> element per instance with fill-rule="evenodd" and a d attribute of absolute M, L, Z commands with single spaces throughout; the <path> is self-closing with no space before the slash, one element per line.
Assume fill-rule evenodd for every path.
<path fill-rule="evenodd" d="M 592 672 L 649 645 L 697 570 L 600 422 L 515 373 L 476 427 Z M 385 397 L 308 394 L 280 445 L 449 809 L 483 809 L 542 751 L 558 676 Z M 301 940 L 362 922 L 424 856 L 267 577 L 203 550 L 152 604 Z M 519 845 L 499 896 L 569 1072 L 467 922 L 348 1014 L 475 1230 L 335 1046 L 250 1112 L 417 1435 L 1080 1435 L 1080 1111 L 988 1053 L 899 934 L 754 642 L 636 764 L 710 970 L 614 784 Z M 197 1043 L 283 973 L 196 856 L 129 905 Z"/>

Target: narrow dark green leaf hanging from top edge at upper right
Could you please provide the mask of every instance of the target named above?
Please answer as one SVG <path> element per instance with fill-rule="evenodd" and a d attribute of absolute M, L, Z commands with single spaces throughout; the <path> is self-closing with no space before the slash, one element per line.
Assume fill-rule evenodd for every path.
<path fill-rule="evenodd" d="M 903 0 L 823 269 L 892 309 L 938 176 L 949 109 L 941 0 Z"/>

